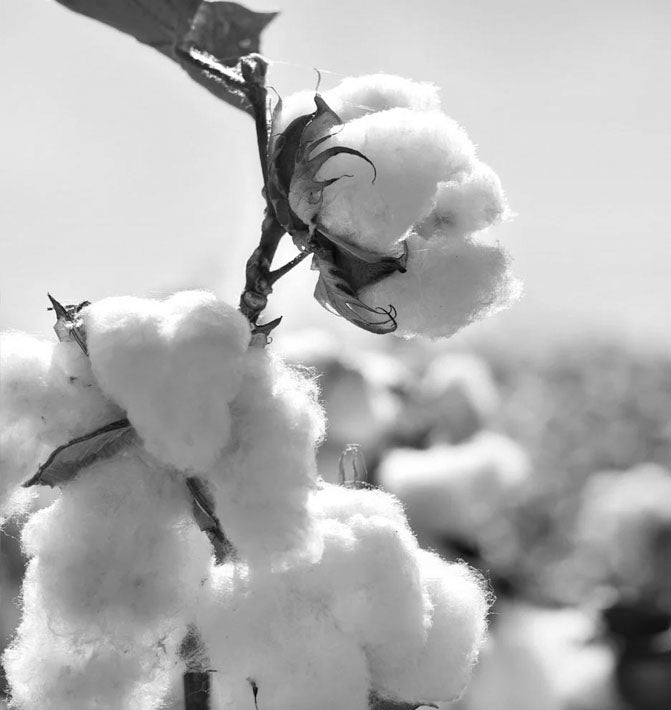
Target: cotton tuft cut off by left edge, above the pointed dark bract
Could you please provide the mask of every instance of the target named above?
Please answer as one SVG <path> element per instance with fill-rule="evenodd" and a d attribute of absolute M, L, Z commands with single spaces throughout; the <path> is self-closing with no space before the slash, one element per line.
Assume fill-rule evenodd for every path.
<path fill-rule="evenodd" d="M 0 337 L 0 521 L 32 494 L 18 486 L 57 446 L 121 416 L 74 342 Z"/>

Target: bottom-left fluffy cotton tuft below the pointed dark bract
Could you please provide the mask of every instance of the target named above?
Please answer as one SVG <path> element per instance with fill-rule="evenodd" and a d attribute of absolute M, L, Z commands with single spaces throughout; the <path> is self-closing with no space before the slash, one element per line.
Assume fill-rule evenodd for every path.
<path fill-rule="evenodd" d="M 126 451 L 90 466 L 23 532 L 23 621 L 3 662 L 18 708 L 154 708 L 210 546 L 183 482 Z"/>

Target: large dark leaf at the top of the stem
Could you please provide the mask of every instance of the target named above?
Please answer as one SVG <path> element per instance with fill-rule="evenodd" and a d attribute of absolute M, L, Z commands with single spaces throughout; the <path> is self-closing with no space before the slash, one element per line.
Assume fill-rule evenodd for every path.
<path fill-rule="evenodd" d="M 241 107 L 241 99 L 221 83 L 185 66 L 176 47 L 196 47 L 234 65 L 258 52 L 263 29 L 275 17 L 234 2 L 202 0 L 58 0 L 62 5 L 129 34 L 170 59 L 220 99 Z"/>

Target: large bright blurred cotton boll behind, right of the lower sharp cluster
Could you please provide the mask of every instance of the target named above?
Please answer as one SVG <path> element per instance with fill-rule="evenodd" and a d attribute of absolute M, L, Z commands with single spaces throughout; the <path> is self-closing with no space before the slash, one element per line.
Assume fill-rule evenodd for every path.
<path fill-rule="evenodd" d="M 380 465 L 380 483 L 406 506 L 421 541 L 482 541 L 498 534 L 499 521 L 530 474 L 529 459 L 511 439 L 483 432 L 457 446 L 397 449 Z"/>

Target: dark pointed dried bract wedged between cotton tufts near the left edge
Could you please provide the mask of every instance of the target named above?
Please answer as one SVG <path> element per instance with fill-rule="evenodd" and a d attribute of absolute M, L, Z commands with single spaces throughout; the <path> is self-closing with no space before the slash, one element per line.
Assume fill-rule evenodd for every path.
<path fill-rule="evenodd" d="M 23 485 L 25 488 L 35 485 L 60 486 L 72 480 L 87 466 L 114 456 L 136 438 L 128 419 L 106 424 L 59 446 Z"/>

